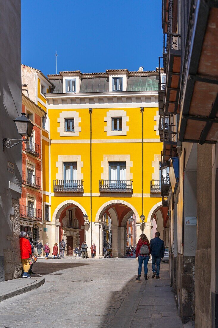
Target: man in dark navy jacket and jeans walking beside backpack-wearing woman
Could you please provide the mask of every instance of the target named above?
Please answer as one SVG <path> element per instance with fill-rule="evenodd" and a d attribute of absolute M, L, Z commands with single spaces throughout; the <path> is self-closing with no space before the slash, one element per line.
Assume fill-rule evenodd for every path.
<path fill-rule="evenodd" d="M 150 241 L 150 253 L 152 256 L 152 278 L 156 276 L 159 278 L 160 274 L 160 260 L 164 257 L 165 246 L 164 241 L 160 239 L 160 233 L 155 233 L 155 238 Z M 157 267 L 157 269 L 156 269 Z"/>

